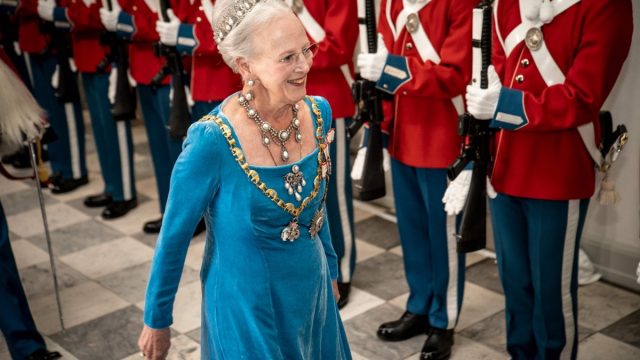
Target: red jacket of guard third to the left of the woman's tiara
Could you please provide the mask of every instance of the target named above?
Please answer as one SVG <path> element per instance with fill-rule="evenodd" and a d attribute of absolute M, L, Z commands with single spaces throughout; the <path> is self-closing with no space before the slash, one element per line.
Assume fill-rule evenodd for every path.
<path fill-rule="evenodd" d="M 71 43 L 73 60 L 78 71 L 95 73 L 98 65 L 103 63 L 109 54 L 109 47 L 100 43 L 100 36 L 105 32 L 100 21 L 101 0 L 86 5 L 83 0 L 58 1 L 59 7 L 54 12 L 57 24 L 68 22 L 71 25 Z M 102 71 L 108 70 L 108 63 Z"/>

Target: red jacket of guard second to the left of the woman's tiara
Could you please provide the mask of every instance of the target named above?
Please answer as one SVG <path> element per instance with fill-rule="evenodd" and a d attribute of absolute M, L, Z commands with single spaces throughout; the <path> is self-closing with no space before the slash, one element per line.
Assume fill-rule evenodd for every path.
<path fill-rule="evenodd" d="M 156 32 L 158 14 L 152 11 L 144 0 L 118 0 L 122 7 L 118 21 L 118 34 L 131 40 L 129 46 L 129 69 L 133 79 L 142 85 L 149 85 L 151 79 L 164 67 L 164 56 L 156 56 L 153 44 L 160 41 Z M 132 30 L 132 31 L 130 31 Z M 168 84 L 170 77 L 164 77 L 162 84 Z"/>

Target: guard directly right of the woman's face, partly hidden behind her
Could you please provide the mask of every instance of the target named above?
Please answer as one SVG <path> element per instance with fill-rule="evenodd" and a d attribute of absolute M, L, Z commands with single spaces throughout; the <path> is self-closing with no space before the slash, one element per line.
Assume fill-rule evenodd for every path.
<path fill-rule="evenodd" d="M 353 55 L 358 40 L 355 1 L 286 0 L 298 15 L 314 47 L 313 66 L 307 75 L 307 93 L 326 98 L 331 104 L 336 141 L 331 143 L 332 176 L 327 197 L 327 215 L 333 248 L 338 255 L 338 289 L 342 308 L 349 300 L 356 266 L 356 238 L 346 129 L 355 113 L 351 96 Z"/>

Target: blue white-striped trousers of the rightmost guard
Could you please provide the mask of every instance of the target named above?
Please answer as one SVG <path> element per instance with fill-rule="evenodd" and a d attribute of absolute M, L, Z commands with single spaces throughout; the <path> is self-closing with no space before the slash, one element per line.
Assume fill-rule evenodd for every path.
<path fill-rule="evenodd" d="M 489 201 L 513 359 L 575 359 L 580 236 L 589 199 Z"/>

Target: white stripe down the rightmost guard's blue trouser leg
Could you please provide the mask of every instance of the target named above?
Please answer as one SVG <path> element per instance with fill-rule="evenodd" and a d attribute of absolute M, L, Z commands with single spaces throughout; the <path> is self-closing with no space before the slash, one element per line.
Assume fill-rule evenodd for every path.
<path fill-rule="evenodd" d="M 571 296 L 571 278 L 573 275 L 573 257 L 576 250 L 576 236 L 578 234 L 578 219 L 580 217 L 580 200 L 569 200 L 567 212 L 567 229 L 564 236 L 564 250 L 562 254 L 562 315 L 564 316 L 564 334 L 567 340 L 560 359 L 571 359 L 573 351 L 575 322 L 573 317 L 573 302 Z"/>

